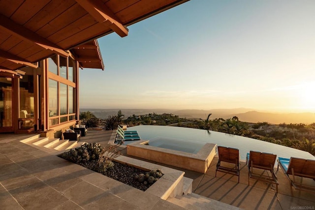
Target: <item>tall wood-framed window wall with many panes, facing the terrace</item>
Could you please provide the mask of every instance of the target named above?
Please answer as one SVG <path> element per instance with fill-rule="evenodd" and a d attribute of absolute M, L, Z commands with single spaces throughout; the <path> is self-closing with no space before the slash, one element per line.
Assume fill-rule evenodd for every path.
<path fill-rule="evenodd" d="M 50 126 L 75 120 L 74 73 L 75 61 L 71 58 L 54 56 L 48 59 Z"/>

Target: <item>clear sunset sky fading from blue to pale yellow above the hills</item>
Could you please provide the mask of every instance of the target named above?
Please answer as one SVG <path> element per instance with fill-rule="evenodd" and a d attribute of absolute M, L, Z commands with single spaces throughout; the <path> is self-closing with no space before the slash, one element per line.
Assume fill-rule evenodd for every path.
<path fill-rule="evenodd" d="M 82 108 L 315 112 L 315 0 L 190 0 L 98 39 Z"/>

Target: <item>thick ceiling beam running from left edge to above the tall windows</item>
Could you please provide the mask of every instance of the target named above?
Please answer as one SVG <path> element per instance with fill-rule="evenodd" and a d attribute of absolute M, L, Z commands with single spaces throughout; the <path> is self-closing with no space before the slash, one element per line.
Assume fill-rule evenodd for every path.
<path fill-rule="evenodd" d="M 0 28 L 8 31 L 9 33 L 14 34 L 15 36 L 20 37 L 23 40 L 32 42 L 33 44 L 36 44 L 37 46 L 40 46 L 44 49 L 48 49 L 53 51 L 54 53 L 68 57 L 68 53 L 65 52 L 63 49 L 61 49 L 56 44 L 48 41 L 47 39 L 41 37 L 37 33 L 34 33 L 32 30 L 29 30 L 11 19 L 7 18 L 6 16 L 0 14 Z"/>

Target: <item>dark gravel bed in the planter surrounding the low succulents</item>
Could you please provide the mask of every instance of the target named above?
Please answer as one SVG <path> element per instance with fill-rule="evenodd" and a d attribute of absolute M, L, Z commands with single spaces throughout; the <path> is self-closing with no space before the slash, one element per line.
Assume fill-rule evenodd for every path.
<path fill-rule="evenodd" d="M 81 165 L 85 168 L 91 169 L 97 173 L 103 174 L 109 178 L 112 178 L 114 180 L 118 180 L 120 182 L 123 182 L 125 184 L 128 184 L 132 187 L 135 187 L 137 189 L 140 189 L 142 191 L 146 191 L 149 187 L 150 184 L 148 183 L 147 185 L 140 183 L 138 180 L 135 180 L 134 177 L 139 174 L 146 174 L 147 171 L 137 169 L 131 166 L 128 166 L 126 164 L 114 162 L 114 166 L 107 169 L 105 172 L 99 172 L 95 170 L 95 162 L 87 161 L 87 162 L 79 162 L 76 163 L 78 165 Z"/>

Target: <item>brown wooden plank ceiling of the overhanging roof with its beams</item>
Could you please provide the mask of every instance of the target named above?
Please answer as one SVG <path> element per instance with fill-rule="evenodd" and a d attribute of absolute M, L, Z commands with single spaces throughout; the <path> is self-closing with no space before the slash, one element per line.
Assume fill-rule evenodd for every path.
<path fill-rule="evenodd" d="M 96 38 L 124 37 L 127 26 L 186 1 L 0 0 L 0 71 L 69 52 L 82 67 L 104 69 Z"/>

